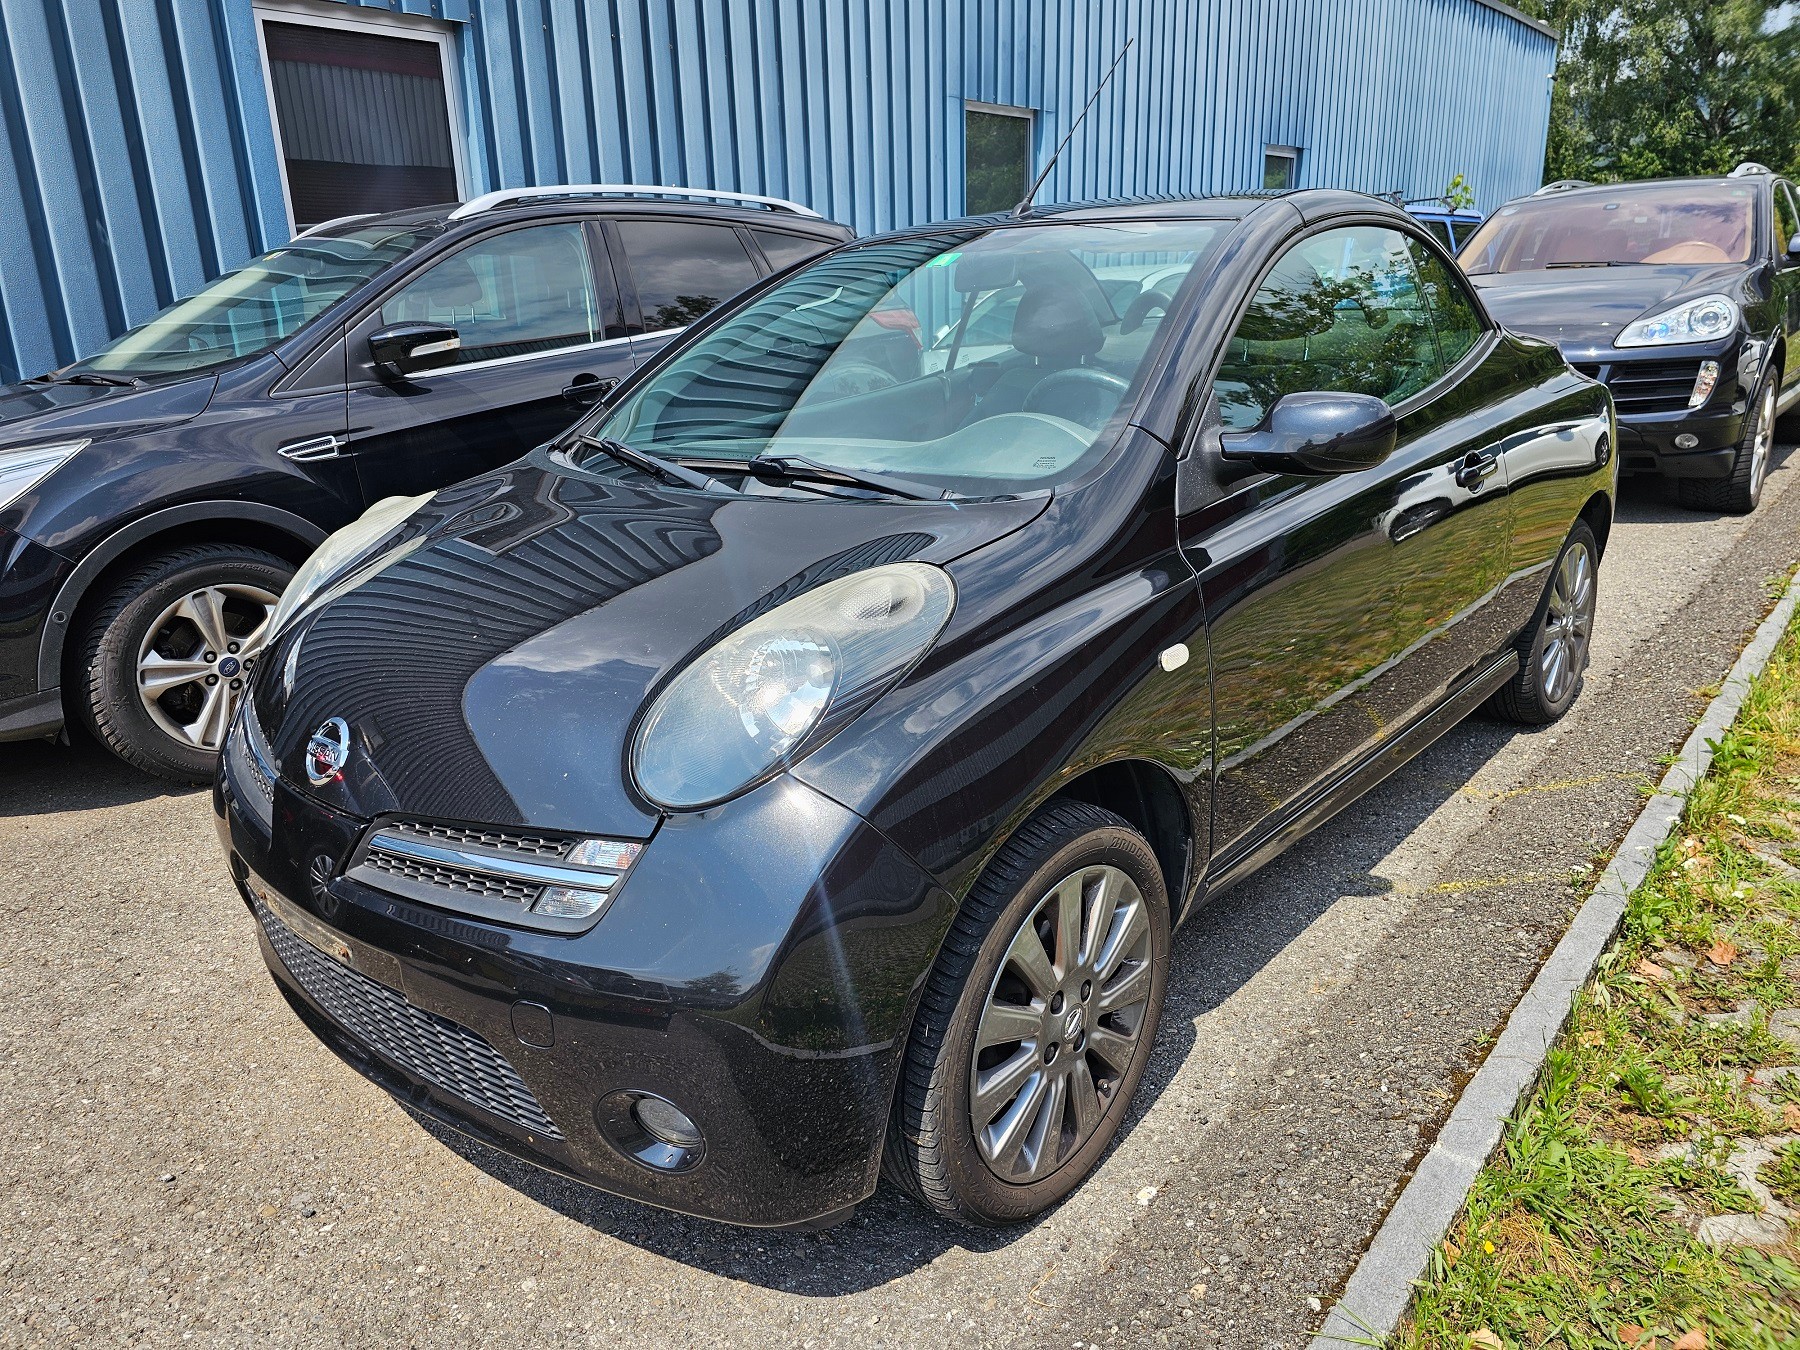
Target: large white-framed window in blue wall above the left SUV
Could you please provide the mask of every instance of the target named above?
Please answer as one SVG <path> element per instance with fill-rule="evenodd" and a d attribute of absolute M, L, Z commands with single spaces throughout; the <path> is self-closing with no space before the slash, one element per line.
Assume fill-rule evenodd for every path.
<path fill-rule="evenodd" d="M 461 198 L 448 34 L 257 16 L 295 229 Z"/>

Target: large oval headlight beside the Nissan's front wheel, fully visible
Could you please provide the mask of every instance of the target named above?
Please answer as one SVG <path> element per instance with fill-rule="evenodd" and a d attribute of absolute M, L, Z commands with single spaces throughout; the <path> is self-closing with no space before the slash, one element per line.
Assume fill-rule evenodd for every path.
<path fill-rule="evenodd" d="M 950 574 L 889 563 L 826 581 L 715 643 L 650 704 L 632 743 L 659 806 L 711 806 L 823 743 L 943 632 Z"/>

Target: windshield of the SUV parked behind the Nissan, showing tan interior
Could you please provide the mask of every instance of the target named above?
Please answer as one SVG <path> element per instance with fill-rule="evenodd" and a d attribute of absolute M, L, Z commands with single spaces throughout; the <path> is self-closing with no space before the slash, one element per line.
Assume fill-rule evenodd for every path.
<path fill-rule="evenodd" d="M 1463 272 L 1625 263 L 1748 263 L 1757 189 L 1746 184 L 1620 184 L 1514 202 L 1456 259 Z"/>

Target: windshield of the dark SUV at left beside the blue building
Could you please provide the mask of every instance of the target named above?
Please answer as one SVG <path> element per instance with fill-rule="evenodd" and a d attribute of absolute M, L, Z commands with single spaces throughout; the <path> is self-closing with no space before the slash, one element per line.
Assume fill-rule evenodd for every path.
<path fill-rule="evenodd" d="M 72 369 L 166 374 L 268 351 L 432 232 L 373 227 L 295 239 L 207 283 Z"/>

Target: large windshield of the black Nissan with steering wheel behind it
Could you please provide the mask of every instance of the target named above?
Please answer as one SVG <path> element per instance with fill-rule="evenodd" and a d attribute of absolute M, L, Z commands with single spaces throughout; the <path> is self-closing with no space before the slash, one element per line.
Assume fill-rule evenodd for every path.
<path fill-rule="evenodd" d="M 932 495 L 1049 488 L 1103 454 L 1175 292 L 1222 229 L 1030 225 L 848 248 L 583 430 L 677 463 L 794 457 Z"/>

